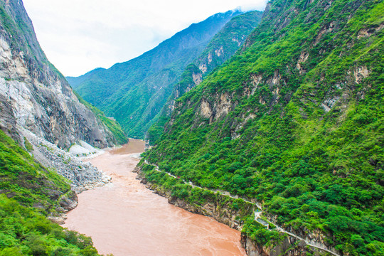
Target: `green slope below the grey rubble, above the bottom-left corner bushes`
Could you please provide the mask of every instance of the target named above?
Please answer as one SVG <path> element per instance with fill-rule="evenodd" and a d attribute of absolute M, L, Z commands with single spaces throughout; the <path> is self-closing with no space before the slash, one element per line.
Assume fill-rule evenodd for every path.
<path fill-rule="evenodd" d="M 24 144 L 31 146 L 27 140 Z M 0 171 L 0 193 L 23 206 L 38 206 L 44 213 L 55 210 L 60 196 L 71 193 L 63 177 L 44 169 L 1 130 Z"/>

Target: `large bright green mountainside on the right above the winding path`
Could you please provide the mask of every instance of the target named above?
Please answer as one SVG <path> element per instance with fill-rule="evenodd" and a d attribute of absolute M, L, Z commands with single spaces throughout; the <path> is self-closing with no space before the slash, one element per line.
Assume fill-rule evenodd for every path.
<path fill-rule="evenodd" d="M 255 199 L 264 220 L 338 255 L 382 255 L 383 28 L 383 1 L 272 1 L 241 53 L 176 101 L 146 159 Z M 254 219 L 252 253 L 309 250 Z"/>

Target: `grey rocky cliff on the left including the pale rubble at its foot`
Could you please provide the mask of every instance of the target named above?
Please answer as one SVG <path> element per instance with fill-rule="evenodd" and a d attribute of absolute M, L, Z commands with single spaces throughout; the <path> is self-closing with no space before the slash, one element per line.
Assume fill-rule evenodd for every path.
<path fill-rule="evenodd" d="M 87 142 L 98 148 L 125 141 L 119 126 L 77 97 L 47 60 L 20 0 L 0 1 L 0 129 L 43 166 L 68 178 L 80 192 L 108 177 L 67 151 Z M 111 132 L 113 131 L 113 133 Z"/>

